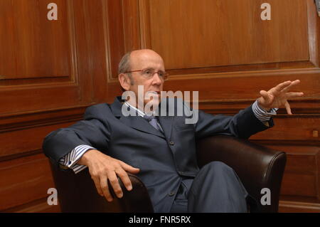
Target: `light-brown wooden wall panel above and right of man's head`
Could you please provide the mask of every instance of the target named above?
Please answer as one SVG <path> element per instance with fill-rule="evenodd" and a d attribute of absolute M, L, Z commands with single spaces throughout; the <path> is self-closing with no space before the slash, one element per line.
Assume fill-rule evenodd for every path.
<path fill-rule="evenodd" d="M 260 19 L 265 1 L 142 2 L 150 8 L 148 47 L 166 59 L 167 69 L 309 59 L 304 0 L 268 1 L 276 23 Z"/>

